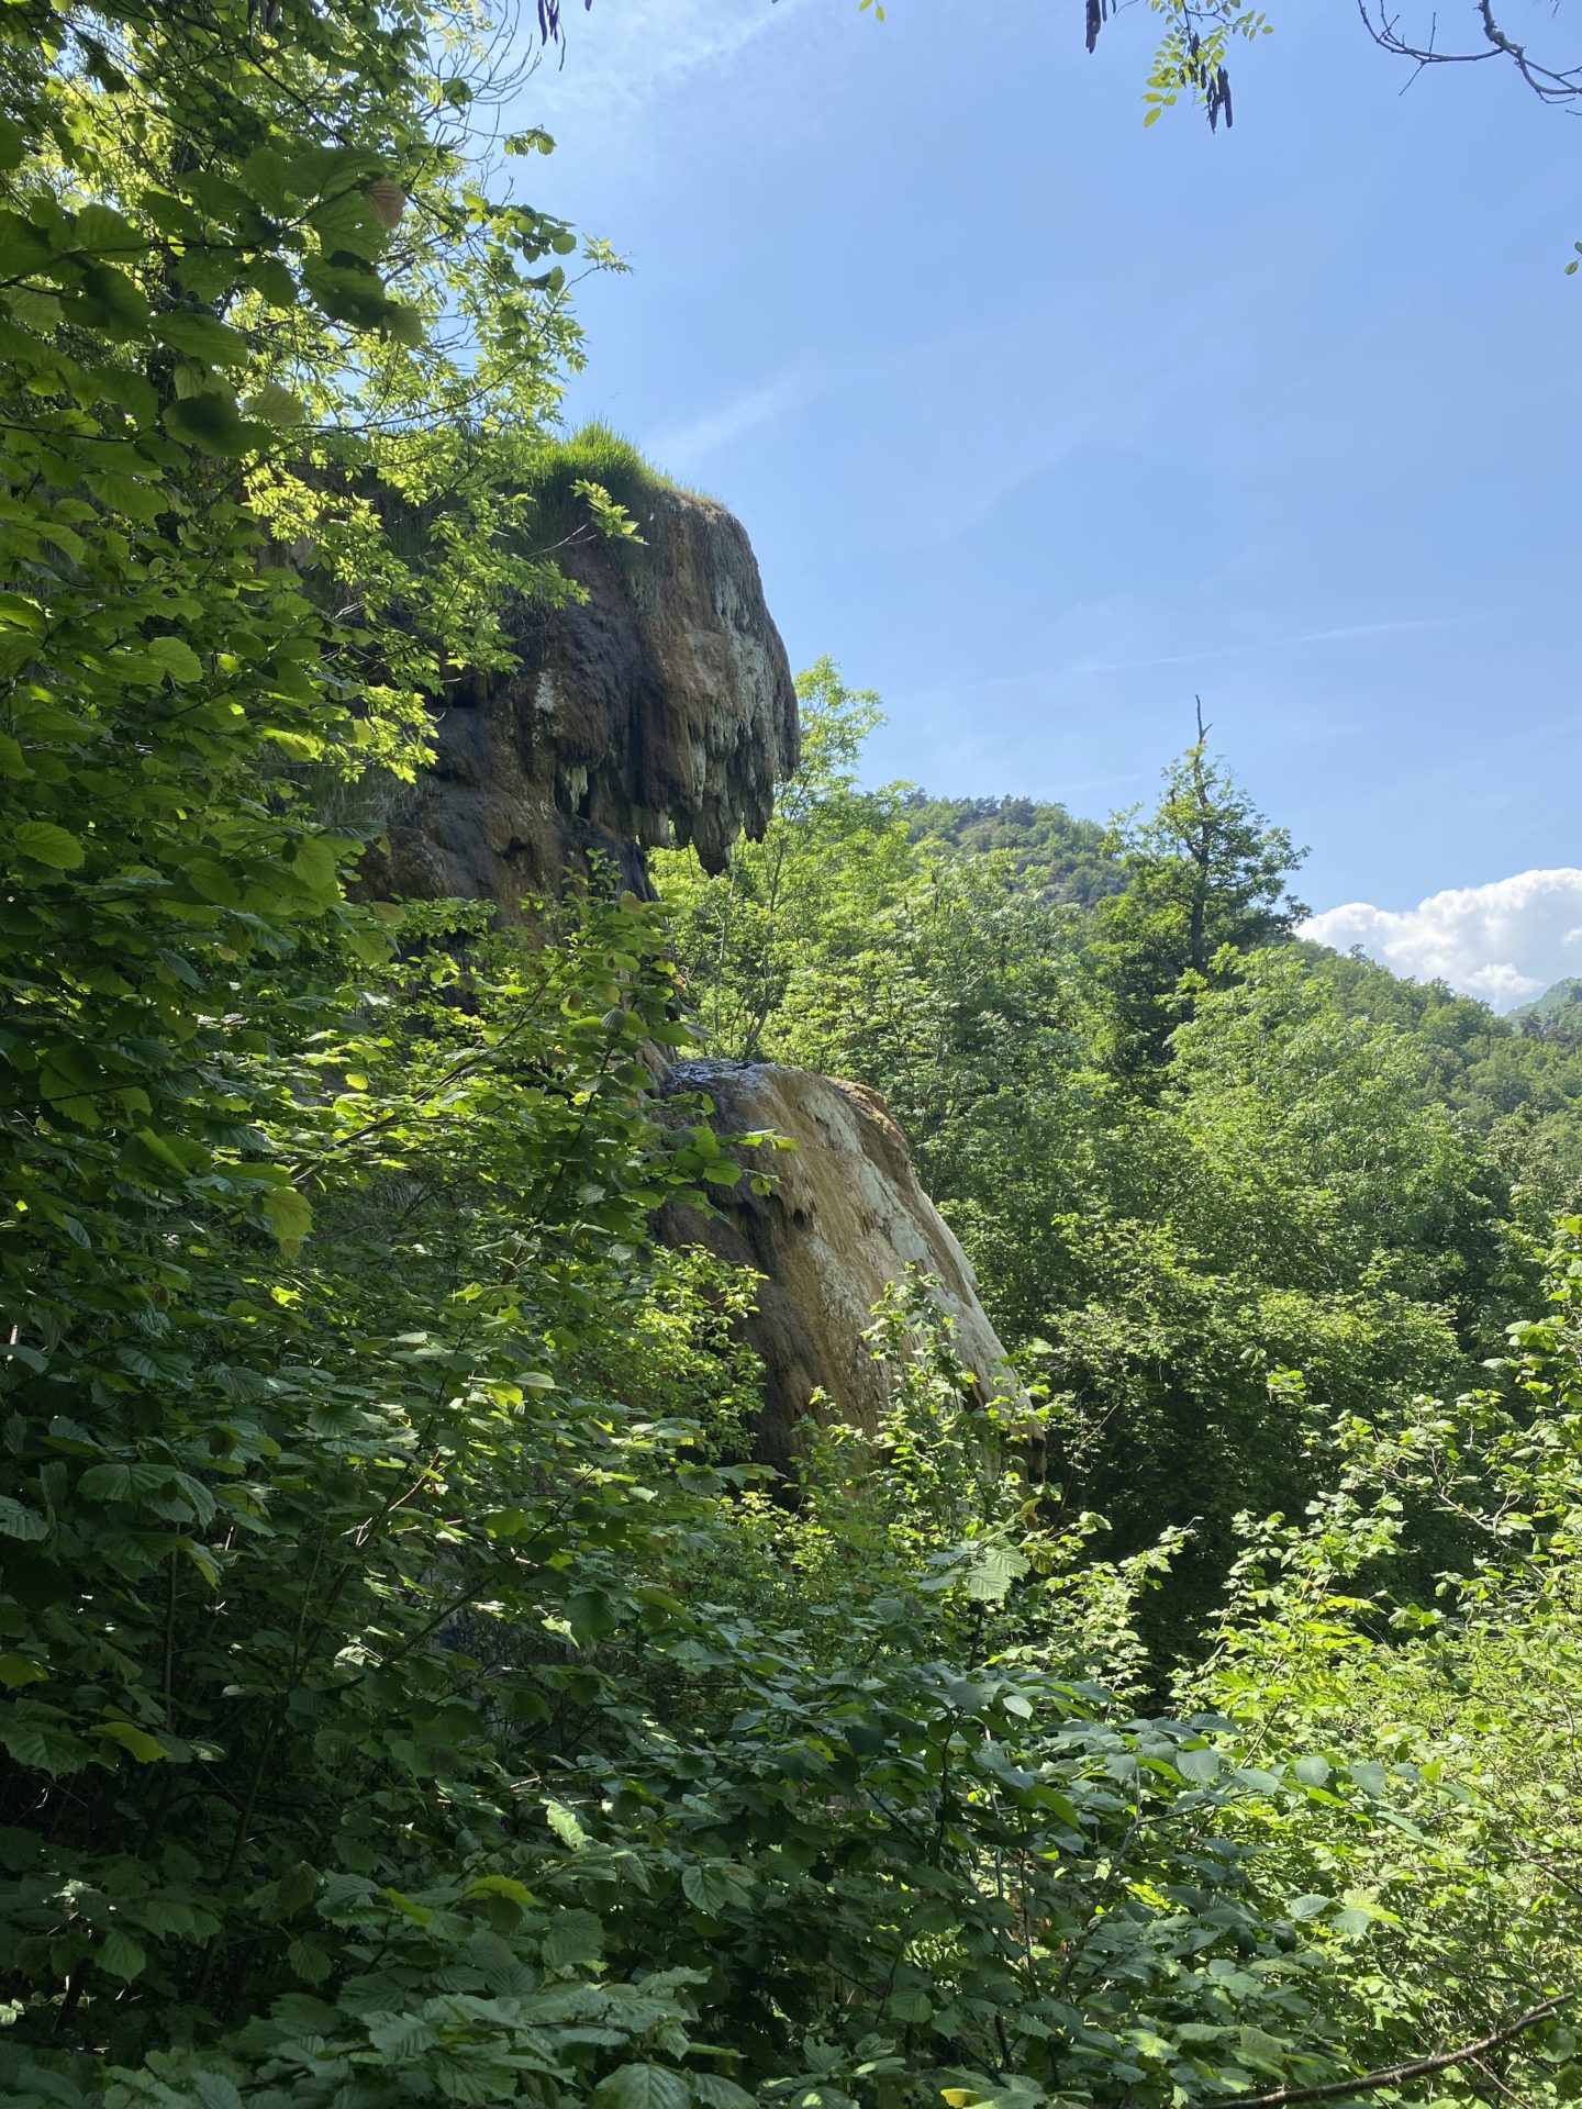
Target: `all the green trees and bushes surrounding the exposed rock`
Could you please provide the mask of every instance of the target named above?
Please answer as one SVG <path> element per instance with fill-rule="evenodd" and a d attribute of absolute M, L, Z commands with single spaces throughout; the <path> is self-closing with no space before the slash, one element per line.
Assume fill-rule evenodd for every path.
<path fill-rule="evenodd" d="M 348 905 L 652 475 L 546 437 L 489 34 L 0 13 L 4 2101 L 1574 2098 L 1569 1046 L 1289 943 L 1200 749 L 858 789 L 831 666 L 662 911 Z M 1034 1407 L 905 1280 L 882 1426 L 742 1464 L 692 1033 L 892 1095 Z"/>

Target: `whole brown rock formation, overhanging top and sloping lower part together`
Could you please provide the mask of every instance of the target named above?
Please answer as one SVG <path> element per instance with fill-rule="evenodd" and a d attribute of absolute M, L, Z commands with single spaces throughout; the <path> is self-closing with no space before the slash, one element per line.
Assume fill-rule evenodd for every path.
<path fill-rule="evenodd" d="M 521 610 L 517 671 L 454 685 L 432 768 L 388 816 L 388 852 L 363 865 L 367 892 L 485 898 L 517 917 L 593 850 L 648 892 L 645 850 L 690 844 L 717 871 L 738 833 L 764 833 L 797 763 L 797 700 L 747 534 L 724 506 L 664 487 L 633 510 L 641 548 L 561 550 L 586 597 Z M 793 1455 L 814 1392 L 873 1426 L 886 1371 L 863 1333 L 913 1265 L 939 1282 L 981 1390 L 1004 1388 L 966 1255 L 875 1092 L 728 1063 L 681 1063 L 662 1088 L 705 1090 L 721 1135 L 774 1128 L 797 1145 L 742 1152 L 772 1175 L 768 1194 L 742 1181 L 719 1192 L 717 1217 L 671 1206 L 660 1225 L 761 1276 L 747 1333 L 766 1369 L 764 1462 Z"/>

